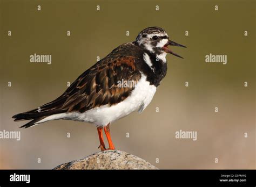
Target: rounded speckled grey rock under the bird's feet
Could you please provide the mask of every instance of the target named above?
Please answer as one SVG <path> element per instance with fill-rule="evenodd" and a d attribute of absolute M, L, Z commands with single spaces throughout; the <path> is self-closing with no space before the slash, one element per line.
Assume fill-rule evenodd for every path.
<path fill-rule="evenodd" d="M 149 162 L 121 150 L 105 150 L 53 169 L 158 169 Z"/>

